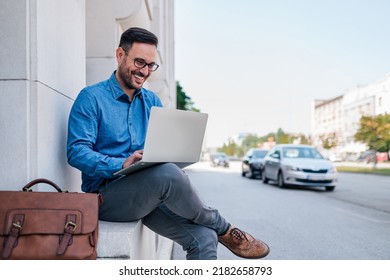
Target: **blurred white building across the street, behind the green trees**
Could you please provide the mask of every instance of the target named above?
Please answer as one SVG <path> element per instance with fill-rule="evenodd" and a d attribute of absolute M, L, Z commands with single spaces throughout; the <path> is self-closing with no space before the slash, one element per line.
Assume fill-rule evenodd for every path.
<path fill-rule="evenodd" d="M 390 74 L 367 85 L 356 86 L 339 97 L 314 101 L 313 145 L 322 149 L 324 141 L 330 140 L 337 145 L 328 151 L 328 156 L 356 158 L 367 150 L 365 144 L 354 138 L 360 118 L 379 114 L 390 114 Z"/>

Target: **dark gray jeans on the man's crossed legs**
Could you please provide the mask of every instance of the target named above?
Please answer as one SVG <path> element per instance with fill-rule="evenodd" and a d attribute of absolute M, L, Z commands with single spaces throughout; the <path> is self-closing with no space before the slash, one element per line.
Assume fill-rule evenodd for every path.
<path fill-rule="evenodd" d="M 127 222 L 142 219 L 154 232 L 179 243 L 187 259 L 216 259 L 218 235 L 229 223 L 206 206 L 188 176 L 165 163 L 101 186 L 104 202 L 99 219 Z"/>

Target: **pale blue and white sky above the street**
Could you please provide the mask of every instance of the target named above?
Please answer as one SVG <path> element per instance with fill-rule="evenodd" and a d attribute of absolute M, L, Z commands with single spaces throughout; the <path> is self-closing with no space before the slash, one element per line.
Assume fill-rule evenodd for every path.
<path fill-rule="evenodd" d="M 388 0 L 177 0 L 175 79 L 205 144 L 311 132 L 312 104 L 390 73 Z"/>

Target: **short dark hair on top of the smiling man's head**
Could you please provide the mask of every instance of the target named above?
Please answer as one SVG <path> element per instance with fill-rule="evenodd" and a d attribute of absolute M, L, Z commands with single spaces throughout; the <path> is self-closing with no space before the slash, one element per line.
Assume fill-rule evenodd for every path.
<path fill-rule="evenodd" d="M 156 35 L 146 29 L 131 27 L 122 33 L 119 47 L 127 52 L 135 42 L 151 44 L 157 47 L 158 39 Z"/>

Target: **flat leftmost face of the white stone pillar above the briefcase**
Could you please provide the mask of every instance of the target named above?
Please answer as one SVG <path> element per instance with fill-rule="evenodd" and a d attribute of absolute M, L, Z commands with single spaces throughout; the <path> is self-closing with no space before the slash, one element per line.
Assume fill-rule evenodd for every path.
<path fill-rule="evenodd" d="M 0 189 L 25 182 L 29 166 L 27 10 L 22 1 L 0 2 Z"/>

